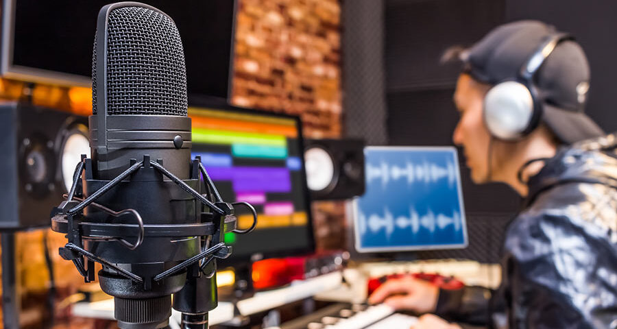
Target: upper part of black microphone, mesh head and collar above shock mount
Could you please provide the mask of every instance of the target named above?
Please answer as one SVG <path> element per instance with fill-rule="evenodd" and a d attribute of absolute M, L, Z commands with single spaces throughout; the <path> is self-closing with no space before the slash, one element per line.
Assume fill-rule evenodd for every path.
<path fill-rule="evenodd" d="M 189 178 L 186 69 L 173 20 L 141 3 L 106 5 L 98 16 L 92 67 L 95 178 L 112 179 L 143 154 Z"/>

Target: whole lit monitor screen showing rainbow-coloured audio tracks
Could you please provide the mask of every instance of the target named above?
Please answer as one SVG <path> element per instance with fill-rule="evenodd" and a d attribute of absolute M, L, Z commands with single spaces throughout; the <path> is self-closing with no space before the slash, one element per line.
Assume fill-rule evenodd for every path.
<path fill-rule="evenodd" d="M 226 233 L 232 258 L 255 253 L 309 252 L 313 246 L 298 119 L 233 109 L 191 108 L 192 157 L 201 156 L 228 202 L 258 213 L 251 234 Z M 253 217 L 237 207 L 239 228 Z"/>

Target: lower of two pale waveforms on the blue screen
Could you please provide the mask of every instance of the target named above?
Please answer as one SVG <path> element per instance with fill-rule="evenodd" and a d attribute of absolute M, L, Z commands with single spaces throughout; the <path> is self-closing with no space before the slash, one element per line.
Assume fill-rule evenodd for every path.
<path fill-rule="evenodd" d="M 452 225 L 455 231 L 461 230 L 461 215 L 457 211 L 454 211 L 452 216 L 441 213 L 435 215 L 433 210 L 429 208 L 426 215 L 420 216 L 411 206 L 409 207 L 409 217 L 399 216 L 395 218 L 387 207 L 383 210 L 383 216 L 372 214 L 368 218 L 363 212 L 359 212 L 359 230 L 361 234 L 364 234 L 367 230 L 376 233 L 385 229 L 386 236 L 389 239 L 396 229 L 410 229 L 413 234 L 418 234 L 420 227 L 422 227 L 432 234 L 437 228 L 443 230 L 447 226 Z"/>

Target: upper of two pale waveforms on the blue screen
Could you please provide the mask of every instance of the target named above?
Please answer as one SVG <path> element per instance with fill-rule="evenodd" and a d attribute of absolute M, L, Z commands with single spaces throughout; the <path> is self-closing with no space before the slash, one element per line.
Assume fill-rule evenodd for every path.
<path fill-rule="evenodd" d="M 384 187 L 391 180 L 406 179 L 408 184 L 414 182 L 428 184 L 445 178 L 448 180 L 448 186 L 452 187 L 456 182 L 457 173 L 455 165 L 450 161 L 446 163 L 446 167 L 426 161 L 420 164 L 407 161 L 404 167 L 399 167 L 382 160 L 378 166 L 366 165 L 366 177 L 369 182 L 380 179 Z"/>

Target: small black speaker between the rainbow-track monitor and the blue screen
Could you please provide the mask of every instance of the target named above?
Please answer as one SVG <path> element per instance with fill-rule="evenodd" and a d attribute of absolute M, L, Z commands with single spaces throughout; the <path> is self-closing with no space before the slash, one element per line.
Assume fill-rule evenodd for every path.
<path fill-rule="evenodd" d="M 313 139 L 304 144 L 306 182 L 312 199 L 349 199 L 364 194 L 364 141 Z"/>

